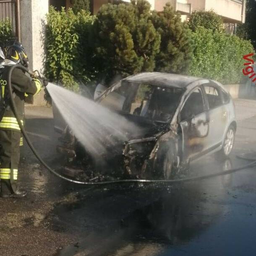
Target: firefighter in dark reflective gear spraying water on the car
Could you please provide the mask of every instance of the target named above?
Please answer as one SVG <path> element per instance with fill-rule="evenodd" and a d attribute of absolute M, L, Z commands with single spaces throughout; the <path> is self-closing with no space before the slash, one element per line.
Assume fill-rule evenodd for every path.
<path fill-rule="evenodd" d="M 28 56 L 24 47 L 17 41 L 11 40 L 5 45 L 5 58 L 13 63 L 29 65 Z M 3 198 L 20 198 L 26 196 L 26 191 L 18 187 L 18 165 L 20 161 L 20 144 L 22 143 L 21 129 L 10 107 L 10 95 L 7 86 L 7 77 L 10 67 L 3 69 L 0 78 L 2 96 L 5 99 L 6 110 L 0 122 L 0 196 Z M 26 97 L 39 93 L 42 81 L 32 79 L 18 68 L 11 76 L 13 98 L 16 104 L 21 123 L 24 124 L 24 101 Z"/>

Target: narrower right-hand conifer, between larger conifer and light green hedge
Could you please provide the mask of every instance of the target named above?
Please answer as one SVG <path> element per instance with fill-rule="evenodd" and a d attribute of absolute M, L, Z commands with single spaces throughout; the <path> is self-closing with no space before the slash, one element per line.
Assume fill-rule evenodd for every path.
<path fill-rule="evenodd" d="M 152 23 L 161 35 L 160 52 L 156 58 L 156 71 L 186 73 L 193 56 L 191 30 L 181 22 L 180 16 L 167 3 L 163 12 L 153 12 Z"/>

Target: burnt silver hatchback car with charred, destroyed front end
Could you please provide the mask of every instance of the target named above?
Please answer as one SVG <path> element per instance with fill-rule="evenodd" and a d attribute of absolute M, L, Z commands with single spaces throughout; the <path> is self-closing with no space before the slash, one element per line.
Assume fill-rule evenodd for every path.
<path fill-rule="evenodd" d="M 92 173 L 100 169 L 109 177 L 170 179 L 206 154 L 228 157 L 234 145 L 235 107 L 216 81 L 140 73 L 111 86 L 96 102 L 135 123 L 142 132 L 131 131 L 127 141 L 111 145 L 105 156 L 107 165 L 102 167 L 66 128 L 58 151 L 68 155 L 71 165 L 79 162 L 88 179 L 99 177 Z"/>

